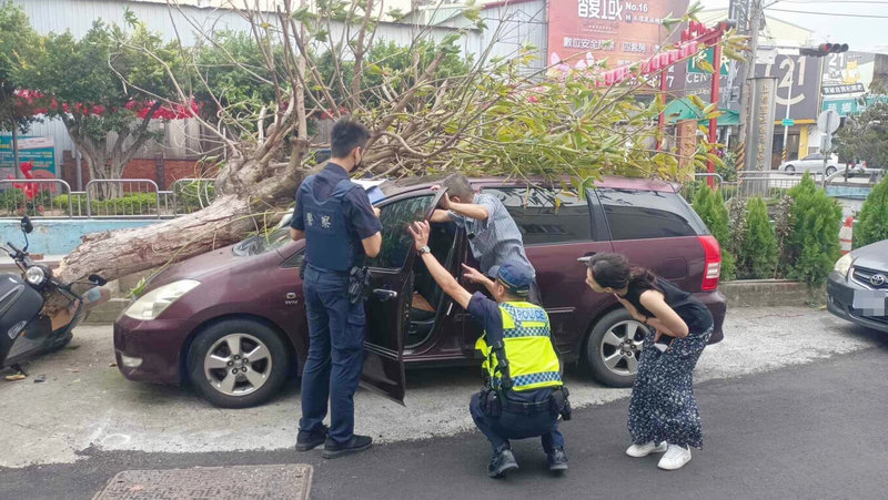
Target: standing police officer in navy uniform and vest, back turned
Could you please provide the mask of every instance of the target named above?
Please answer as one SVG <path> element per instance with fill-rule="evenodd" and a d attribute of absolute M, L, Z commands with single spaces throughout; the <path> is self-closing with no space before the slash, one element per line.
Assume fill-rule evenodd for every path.
<path fill-rule="evenodd" d="M 363 451 L 372 439 L 354 433 L 354 392 L 364 363 L 366 318 L 359 296 L 349 295 L 350 276 L 364 256 L 382 246 L 379 212 L 364 190 L 349 180 L 361 164 L 370 131 L 340 121 L 332 130 L 331 160 L 296 192 L 293 239 L 305 238 L 303 279 L 309 316 L 309 358 L 302 373 L 302 419 L 296 449 L 324 445 L 324 458 Z M 354 288 L 354 287 L 353 287 Z M 360 287 L 359 287 L 360 288 Z M 330 428 L 324 417 L 330 401 Z"/>

